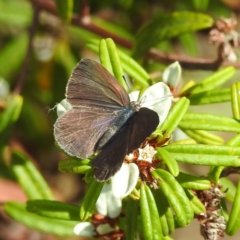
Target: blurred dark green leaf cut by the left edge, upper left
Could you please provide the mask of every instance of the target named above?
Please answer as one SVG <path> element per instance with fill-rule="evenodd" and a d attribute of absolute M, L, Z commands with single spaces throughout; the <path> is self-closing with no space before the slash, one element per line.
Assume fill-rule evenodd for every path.
<path fill-rule="evenodd" d="M 9 41 L 0 51 L 0 76 L 8 79 L 18 70 L 27 50 L 28 36 L 26 33 Z M 7 59 L 7 61 L 6 61 Z"/>

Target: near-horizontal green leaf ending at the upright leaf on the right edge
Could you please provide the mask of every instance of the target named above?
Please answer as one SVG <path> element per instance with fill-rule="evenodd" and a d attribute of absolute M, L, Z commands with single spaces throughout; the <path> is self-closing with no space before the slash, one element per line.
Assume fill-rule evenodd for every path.
<path fill-rule="evenodd" d="M 188 96 L 191 105 L 221 103 L 231 101 L 231 89 L 213 89 Z"/>

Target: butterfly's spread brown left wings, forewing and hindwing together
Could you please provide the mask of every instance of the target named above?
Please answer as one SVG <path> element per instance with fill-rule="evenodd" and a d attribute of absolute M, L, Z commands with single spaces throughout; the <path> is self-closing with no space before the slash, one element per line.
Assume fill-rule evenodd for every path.
<path fill-rule="evenodd" d="M 71 156 L 86 158 L 117 112 L 129 105 L 129 96 L 117 80 L 99 63 L 83 59 L 74 68 L 66 89 L 72 109 L 54 125 L 55 139 Z"/>

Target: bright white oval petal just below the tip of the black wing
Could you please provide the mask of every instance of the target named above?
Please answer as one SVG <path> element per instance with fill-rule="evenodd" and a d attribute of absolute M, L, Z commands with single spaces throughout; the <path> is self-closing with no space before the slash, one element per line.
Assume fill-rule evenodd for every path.
<path fill-rule="evenodd" d="M 134 163 L 123 163 L 121 169 L 111 179 L 112 192 L 116 198 L 123 199 L 135 188 L 139 169 Z"/>

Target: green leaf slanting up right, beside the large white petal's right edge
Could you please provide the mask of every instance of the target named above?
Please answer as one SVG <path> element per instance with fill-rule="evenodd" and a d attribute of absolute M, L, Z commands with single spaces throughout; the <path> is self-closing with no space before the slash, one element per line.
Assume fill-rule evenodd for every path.
<path fill-rule="evenodd" d="M 189 100 L 182 97 L 170 110 L 164 123 L 156 130 L 156 132 L 164 132 L 166 130 L 166 137 L 171 136 L 172 132 L 181 121 L 189 107 Z"/>

